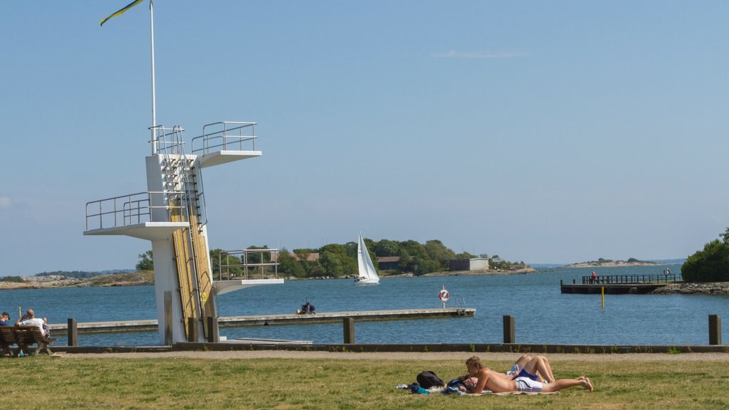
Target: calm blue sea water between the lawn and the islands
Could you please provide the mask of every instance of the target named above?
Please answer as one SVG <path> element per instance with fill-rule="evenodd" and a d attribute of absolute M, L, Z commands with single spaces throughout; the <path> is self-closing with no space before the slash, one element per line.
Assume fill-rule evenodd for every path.
<path fill-rule="evenodd" d="M 663 268 L 601 268 L 598 274 L 660 274 Z M 668 266 L 679 273 L 680 266 Z M 374 287 L 351 280 L 287 281 L 222 295 L 220 316 L 288 314 L 306 300 L 319 312 L 413 309 L 441 306 L 445 285 L 454 298 L 477 309 L 475 317 L 438 320 L 357 322 L 359 343 L 501 343 L 502 317 L 515 317 L 516 339 L 534 344 L 708 344 L 709 314 L 729 320 L 729 296 L 712 295 L 563 295 L 559 281 L 572 282 L 592 269 L 564 269 L 511 276 L 461 276 L 383 279 Z M 17 319 L 17 306 L 33 308 L 51 323 L 156 319 L 152 286 L 87 287 L 0 291 L 0 309 Z M 303 339 L 341 343 L 342 325 L 282 325 L 222 328 L 222 336 Z M 66 344 L 65 335 L 58 344 Z M 729 340 L 729 325 L 722 340 Z M 85 345 L 157 344 L 157 333 L 79 335 Z"/>

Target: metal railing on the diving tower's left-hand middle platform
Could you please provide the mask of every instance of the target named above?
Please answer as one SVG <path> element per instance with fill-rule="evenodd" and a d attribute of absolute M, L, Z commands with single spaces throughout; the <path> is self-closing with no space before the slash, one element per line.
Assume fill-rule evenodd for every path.
<path fill-rule="evenodd" d="M 99 199 L 86 203 L 86 231 L 90 229 L 116 228 L 118 226 L 135 225 L 144 222 L 168 222 L 170 212 L 179 209 L 182 214 L 184 204 L 179 201 L 176 206 L 170 206 L 170 199 L 181 198 L 182 193 L 177 191 L 166 192 L 139 192 L 130 193 L 114 198 Z M 155 206 L 152 204 L 164 204 Z M 152 212 L 155 209 L 164 209 L 165 217 L 154 220 Z M 166 218 L 166 219 L 165 219 Z"/>

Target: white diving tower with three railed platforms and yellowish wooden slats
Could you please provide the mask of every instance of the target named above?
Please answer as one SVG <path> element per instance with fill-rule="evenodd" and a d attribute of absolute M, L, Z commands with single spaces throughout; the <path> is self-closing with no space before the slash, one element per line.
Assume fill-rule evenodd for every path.
<path fill-rule="evenodd" d="M 255 125 L 205 125 L 203 134 L 192 139 L 190 153 L 185 152 L 184 129 L 152 127 L 152 154 L 145 158 L 147 191 L 86 204 L 84 235 L 124 235 L 152 242 L 160 344 L 219 341 L 217 295 L 284 283 L 276 263 L 265 262 L 265 252 L 278 250 L 227 251 L 226 256 L 236 256 L 236 263 L 218 260 L 217 277 L 209 257 L 202 169 L 260 157 Z M 251 258 L 254 263 L 249 263 L 250 252 L 260 252 Z M 250 274 L 249 266 L 254 268 Z"/>

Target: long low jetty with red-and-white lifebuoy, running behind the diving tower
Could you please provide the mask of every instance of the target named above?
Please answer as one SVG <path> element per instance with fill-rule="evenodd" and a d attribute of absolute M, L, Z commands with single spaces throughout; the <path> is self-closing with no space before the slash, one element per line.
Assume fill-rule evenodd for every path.
<path fill-rule="evenodd" d="M 220 328 L 266 325 L 314 325 L 320 323 L 340 323 L 343 318 L 351 317 L 358 322 L 375 320 L 415 320 L 443 317 L 473 317 L 474 308 L 433 308 L 370 310 L 358 312 L 322 312 L 314 314 L 264 314 L 256 316 L 219 317 Z M 48 325 L 51 331 L 68 330 L 67 323 Z M 120 320 L 114 322 L 79 322 L 79 333 L 149 332 L 157 330 L 157 320 Z"/>

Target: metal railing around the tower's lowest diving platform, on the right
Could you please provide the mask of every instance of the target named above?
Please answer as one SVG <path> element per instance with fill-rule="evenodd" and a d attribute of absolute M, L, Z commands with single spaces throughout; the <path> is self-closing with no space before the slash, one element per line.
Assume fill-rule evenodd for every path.
<path fill-rule="evenodd" d="M 277 249 L 223 251 L 213 266 L 213 279 L 278 279 L 277 261 Z"/>

